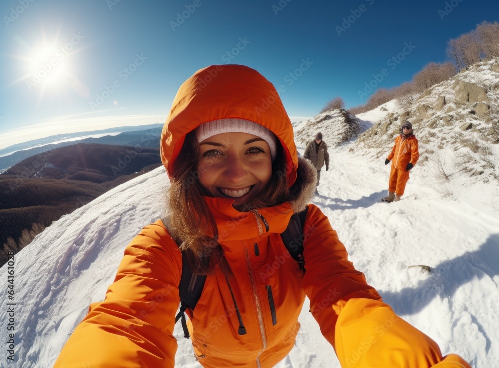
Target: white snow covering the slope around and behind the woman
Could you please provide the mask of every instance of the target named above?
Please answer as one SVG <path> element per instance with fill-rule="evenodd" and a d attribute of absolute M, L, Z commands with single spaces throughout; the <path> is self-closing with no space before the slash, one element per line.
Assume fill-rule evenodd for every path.
<path fill-rule="evenodd" d="M 361 119 L 372 124 L 382 113 L 366 113 Z M 330 132 L 322 134 L 327 142 Z M 297 142 L 303 139 L 296 137 Z M 457 353 L 474 368 L 495 367 L 497 183 L 463 174 L 447 184 L 452 195 L 443 196 L 429 166 L 418 163 L 402 200 L 382 203 L 390 166 L 384 165 L 384 157 L 353 154 L 352 144 L 329 149 L 329 170 L 322 171 L 320 194 L 313 202 L 329 217 L 356 268 L 402 318 L 432 337 L 443 354 Z M 298 150 L 303 153 L 304 146 L 298 144 Z M 132 179 L 63 216 L 15 256 L 15 297 L 10 301 L 16 303 L 15 367 L 52 367 L 88 305 L 104 298 L 128 242 L 164 214 L 168 185 L 162 167 Z M 412 267 L 419 265 L 431 267 L 431 273 Z M 7 280 L 7 265 L 0 279 Z M 1 321 L 9 317 L 6 290 L 4 286 Z M 276 367 L 340 367 L 308 309 L 305 303 L 294 349 Z M 4 326 L 0 341 L 6 342 L 8 333 Z M 176 366 L 200 367 L 180 323 L 175 336 Z M 8 363 L 6 355 L 4 348 L 2 367 Z"/>

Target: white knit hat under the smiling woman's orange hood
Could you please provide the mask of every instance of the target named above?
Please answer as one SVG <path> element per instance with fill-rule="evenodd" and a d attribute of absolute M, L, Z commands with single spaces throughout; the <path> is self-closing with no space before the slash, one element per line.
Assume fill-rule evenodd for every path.
<path fill-rule="evenodd" d="M 236 118 L 212 120 L 203 123 L 196 128 L 198 143 L 203 142 L 208 137 L 214 136 L 216 134 L 233 132 L 249 133 L 264 139 L 265 142 L 268 143 L 268 147 L 270 148 L 272 161 L 275 159 L 275 155 L 277 154 L 275 135 L 264 126 L 254 123 L 250 120 Z"/>

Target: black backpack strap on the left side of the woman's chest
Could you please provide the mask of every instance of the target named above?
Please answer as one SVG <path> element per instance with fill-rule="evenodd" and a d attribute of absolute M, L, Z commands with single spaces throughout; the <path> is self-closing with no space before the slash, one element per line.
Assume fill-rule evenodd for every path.
<path fill-rule="evenodd" d="M 161 219 L 166 229 L 172 236 L 173 240 L 177 243 L 177 246 L 182 244 L 182 240 L 173 236 L 170 231 L 170 218 L 171 216 L 166 216 Z M 182 329 L 184 330 L 184 337 L 189 338 L 189 331 L 187 330 L 187 322 L 185 317 L 185 310 L 189 308 L 191 311 L 194 310 L 196 304 L 198 303 L 199 297 L 203 292 L 203 286 L 205 285 L 206 275 L 197 275 L 192 272 L 189 267 L 189 256 L 192 256 L 191 250 L 187 249 L 182 252 L 182 275 L 180 276 L 179 283 L 179 295 L 180 295 L 180 311 L 175 317 L 175 323 L 182 319 Z M 203 262 L 208 265 L 210 259 L 205 257 Z"/>

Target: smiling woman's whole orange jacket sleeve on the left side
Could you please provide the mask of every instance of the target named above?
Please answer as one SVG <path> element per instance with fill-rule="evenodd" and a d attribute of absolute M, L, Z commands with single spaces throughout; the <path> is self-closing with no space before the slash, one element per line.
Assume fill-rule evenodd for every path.
<path fill-rule="evenodd" d="M 158 222 L 127 246 L 105 300 L 90 306 L 54 368 L 174 367 L 182 257 Z"/>

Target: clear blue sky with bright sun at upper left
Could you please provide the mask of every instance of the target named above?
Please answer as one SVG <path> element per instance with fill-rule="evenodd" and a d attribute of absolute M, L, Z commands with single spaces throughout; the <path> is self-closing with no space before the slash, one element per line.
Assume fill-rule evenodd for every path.
<path fill-rule="evenodd" d="M 499 20 L 499 2 L 3 0 L 0 15 L 5 147 L 81 124 L 162 122 L 180 84 L 211 64 L 284 86 L 293 121 L 336 96 L 357 106 L 383 69 L 376 84 L 390 88 L 446 61 L 451 38 Z"/>

